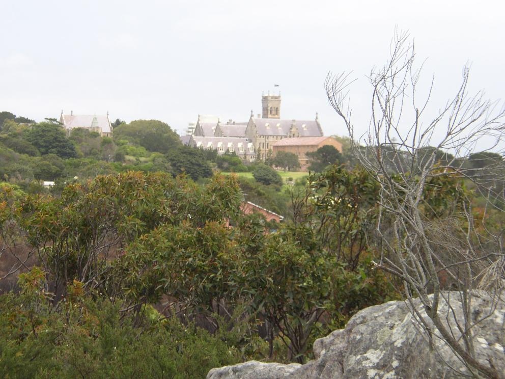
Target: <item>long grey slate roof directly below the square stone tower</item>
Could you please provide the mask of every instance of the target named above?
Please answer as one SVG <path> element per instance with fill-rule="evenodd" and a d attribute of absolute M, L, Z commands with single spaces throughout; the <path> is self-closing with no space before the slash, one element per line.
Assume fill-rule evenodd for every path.
<path fill-rule="evenodd" d="M 315 120 L 283 120 L 253 118 L 258 134 L 266 136 L 287 136 L 294 124 L 300 136 L 320 137 L 322 131 Z"/>

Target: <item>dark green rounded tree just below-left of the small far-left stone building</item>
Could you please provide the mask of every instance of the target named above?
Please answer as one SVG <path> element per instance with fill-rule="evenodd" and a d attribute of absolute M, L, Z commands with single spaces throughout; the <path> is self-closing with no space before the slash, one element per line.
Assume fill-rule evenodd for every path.
<path fill-rule="evenodd" d="M 26 141 L 41 154 L 56 154 L 61 158 L 76 156 L 74 145 L 68 140 L 60 125 L 41 122 L 26 131 Z"/>

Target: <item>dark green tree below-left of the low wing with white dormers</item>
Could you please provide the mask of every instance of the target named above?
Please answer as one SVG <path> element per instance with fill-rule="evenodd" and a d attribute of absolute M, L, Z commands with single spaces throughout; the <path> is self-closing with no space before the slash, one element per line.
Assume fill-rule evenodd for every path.
<path fill-rule="evenodd" d="M 166 157 L 174 175 L 186 173 L 193 180 L 212 176 L 212 169 L 200 149 L 181 145 L 170 151 Z"/>

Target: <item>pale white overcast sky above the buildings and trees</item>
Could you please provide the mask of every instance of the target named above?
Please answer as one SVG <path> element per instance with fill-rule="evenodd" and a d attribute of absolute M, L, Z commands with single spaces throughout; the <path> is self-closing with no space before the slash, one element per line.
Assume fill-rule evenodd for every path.
<path fill-rule="evenodd" d="M 470 90 L 503 98 L 503 2 L 0 0 L 0 111 L 37 121 L 75 114 L 159 119 L 178 131 L 198 114 L 247 121 L 280 85 L 281 117 L 344 135 L 328 71 L 353 71 L 354 121 L 368 126 L 365 75 L 389 55 L 395 25 L 415 38 L 444 102 L 471 63 Z"/>

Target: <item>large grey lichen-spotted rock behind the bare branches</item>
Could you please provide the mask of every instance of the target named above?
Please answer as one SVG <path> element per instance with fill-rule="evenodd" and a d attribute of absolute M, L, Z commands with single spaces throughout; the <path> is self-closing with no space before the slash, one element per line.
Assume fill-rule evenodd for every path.
<path fill-rule="evenodd" d="M 456 336 L 456 320 L 462 322 L 457 293 L 450 294 L 451 307 L 441 301 L 439 315 Z M 417 311 L 428 320 L 420 302 Z M 498 372 L 505 372 L 505 303 L 485 292 L 472 298 L 472 321 L 476 357 Z M 314 343 L 315 360 L 304 365 L 250 361 L 214 368 L 208 379 L 350 379 L 350 378 L 454 378 L 468 373 L 465 365 L 440 338 L 420 330 L 405 302 L 394 301 L 369 307 L 354 315 L 345 329 L 336 330 Z M 458 373 L 459 371 L 459 373 Z"/>

